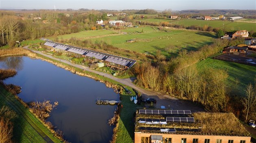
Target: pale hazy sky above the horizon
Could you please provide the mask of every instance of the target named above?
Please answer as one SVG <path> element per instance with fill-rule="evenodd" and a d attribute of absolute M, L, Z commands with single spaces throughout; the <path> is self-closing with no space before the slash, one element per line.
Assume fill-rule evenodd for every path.
<path fill-rule="evenodd" d="M 256 9 L 256 0 L 0 0 L 0 8 L 14 9 Z"/>

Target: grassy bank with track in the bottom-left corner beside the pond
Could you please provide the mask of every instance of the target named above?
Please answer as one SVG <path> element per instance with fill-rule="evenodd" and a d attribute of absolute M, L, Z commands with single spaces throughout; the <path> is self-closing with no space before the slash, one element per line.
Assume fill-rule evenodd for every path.
<path fill-rule="evenodd" d="M 46 143 L 51 140 L 60 143 L 59 139 L 53 137 L 41 122 L 33 116 L 33 114 L 25 108 L 11 93 L 8 93 L 2 85 L 0 85 L 0 107 L 9 106 L 13 109 L 18 117 L 15 118 L 13 128 L 14 143 Z"/>

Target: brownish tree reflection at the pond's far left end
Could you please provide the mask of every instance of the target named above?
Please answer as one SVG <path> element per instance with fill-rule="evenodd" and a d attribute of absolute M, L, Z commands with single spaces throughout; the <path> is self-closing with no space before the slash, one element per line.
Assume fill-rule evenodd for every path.
<path fill-rule="evenodd" d="M 16 69 L 20 71 L 23 69 L 23 59 L 22 57 L 7 57 L 0 58 L 0 67 L 4 69 Z"/>

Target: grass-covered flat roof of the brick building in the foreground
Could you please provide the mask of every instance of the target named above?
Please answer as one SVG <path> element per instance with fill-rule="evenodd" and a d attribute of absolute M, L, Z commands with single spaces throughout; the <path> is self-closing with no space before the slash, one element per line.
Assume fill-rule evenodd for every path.
<path fill-rule="evenodd" d="M 171 120 L 169 120 L 170 118 Z M 180 120 L 174 120 L 174 118 L 180 118 Z M 187 120 L 183 121 L 183 118 Z M 165 119 L 167 119 L 165 124 L 162 124 Z M 191 122 L 187 122 L 189 121 L 188 119 L 191 119 Z M 173 128 L 175 132 L 163 132 L 163 129 Z M 234 114 L 209 112 L 171 114 L 170 117 L 170 115 L 166 114 L 139 114 L 138 111 L 135 118 L 135 132 L 244 137 L 250 135 Z"/>

